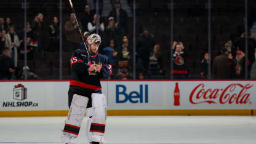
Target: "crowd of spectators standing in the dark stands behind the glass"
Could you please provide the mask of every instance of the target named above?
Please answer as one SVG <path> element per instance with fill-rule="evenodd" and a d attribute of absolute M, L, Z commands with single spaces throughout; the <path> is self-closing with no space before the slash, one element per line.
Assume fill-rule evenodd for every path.
<path fill-rule="evenodd" d="M 95 2 L 95 1 L 94 1 Z M 119 0 L 113 1 L 113 9 L 106 19 L 101 18 L 103 1 L 99 2 L 99 12 L 92 10 L 89 5 L 84 6 L 83 17 L 78 20 L 81 30 L 84 32 L 84 40 L 92 33 L 102 36 L 100 53 L 106 55 L 113 64 L 113 75 L 111 79 L 133 79 L 132 69 L 134 53 L 136 57 L 137 79 L 163 79 L 164 63 L 171 61 L 172 70 L 166 72 L 173 74 L 174 79 L 188 79 L 190 70 L 187 65 L 188 49 L 183 45 L 184 41 L 174 41 L 172 55 L 168 60 L 163 58 L 162 46 L 159 44 L 150 30 L 142 28 L 142 33 L 136 39 L 136 52 L 128 34 L 128 16 L 126 10 L 122 9 Z M 105 22 L 106 20 L 107 22 Z M 44 14 L 38 13 L 33 20 L 26 23 L 26 31 L 17 31 L 17 25 L 12 23 L 9 17 L 0 15 L 0 79 L 23 79 L 24 70 L 28 71 L 28 79 L 41 79 L 29 67 L 18 67 L 19 60 L 34 60 L 36 54 L 44 57 L 45 52 L 58 52 L 60 46 L 60 31 L 65 34 L 65 47 L 68 52 L 75 49 L 84 49 L 84 42 L 79 34 L 79 27 L 73 13 L 70 19 L 64 23 L 63 30 L 60 30 L 58 17 L 52 16 L 52 22 L 46 29 Z M 48 31 L 49 30 L 49 31 Z M 26 33 L 26 51 L 24 47 L 24 33 Z M 48 33 L 48 34 L 46 34 Z M 211 63 L 211 78 L 213 79 L 244 79 L 250 78 L 252 64 L 255 62 L 256 41 L 252 34 L 247 38 L 248 58 L 246 59 L 245 48 L 246 35 L 243 33 L 236 41 L 228 41 L 223 44 L 218 55 L 209 55 L 207 50 L 202 55 L 201 70 L 198 75 L 201 79 L 207 79 L 209 63 Z M 49 39 L 49 43 L 46 40 Z M 71 55 L 70 55 L 71 56 Z M 211 62 L 209 62 L 211 57 Z M 66 57 L 68 58 L 68 57 Z M 66 61 L 65 61 L 66 62 Z"/>

